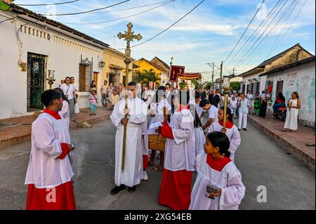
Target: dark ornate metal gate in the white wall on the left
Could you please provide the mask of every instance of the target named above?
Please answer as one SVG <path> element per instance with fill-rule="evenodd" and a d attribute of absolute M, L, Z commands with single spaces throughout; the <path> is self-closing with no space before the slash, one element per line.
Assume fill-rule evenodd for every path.
<path fill-rule="evenodd" d="M 46 84 L 46 56 L 27 53 L 27 112 L 43 109 L 41 93 Z"/>

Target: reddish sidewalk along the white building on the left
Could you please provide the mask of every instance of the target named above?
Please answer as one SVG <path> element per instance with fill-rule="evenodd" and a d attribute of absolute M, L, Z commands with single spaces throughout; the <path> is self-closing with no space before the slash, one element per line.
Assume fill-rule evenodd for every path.
<path fill-rule="evenodd" d="M 0 119 L 0 150 L 9 145 L 15 145 L 31 139 L 32 122 L 40 113 L 29 116 Z M 110 117 L 111 112 L 103 107 L 97 107 L 96 115 L 89 116 L 90 108 L 82 108 L 77 114 L 77 122 L 70 121 L 70 129 L 81 127 L 81 123 L 96 124 Z"/>

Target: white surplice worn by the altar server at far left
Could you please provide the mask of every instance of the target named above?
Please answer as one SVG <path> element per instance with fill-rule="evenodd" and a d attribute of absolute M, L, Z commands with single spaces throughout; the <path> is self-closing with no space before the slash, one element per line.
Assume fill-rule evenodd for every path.
<path fill-rule="evenodd" d="M 74 173 L 68 155 L 65 159 L 58 159 L 62 154 L 60 143 L 71 144 L 65 119 L 41 113 L 32 124 L 32 149 L 25 185 L 49 188 L 71 180 Z"/>

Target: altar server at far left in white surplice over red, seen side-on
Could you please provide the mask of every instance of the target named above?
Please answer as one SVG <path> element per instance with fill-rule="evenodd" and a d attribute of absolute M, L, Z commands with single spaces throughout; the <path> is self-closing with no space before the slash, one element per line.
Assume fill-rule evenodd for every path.
<path fill-rule="evenodd" d="M 69 128 L 58 112 L 62 98 L 55 90 L 42 93 L 46 107 L 32 124 L 32 149 L 25 178 L 28 185 L 27 210 L 76 209 L 72 167 L 68 152 Z"/>

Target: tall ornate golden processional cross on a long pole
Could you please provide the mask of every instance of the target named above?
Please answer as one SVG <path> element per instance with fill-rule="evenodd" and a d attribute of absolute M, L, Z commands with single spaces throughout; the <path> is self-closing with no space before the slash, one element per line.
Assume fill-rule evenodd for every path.
<path fill-rule="evenodd" d="M 143 37 L 140 34 L 134 35 L 134 32 L 131 31 L 133 28 L 133 25 L 131 22 L 129 22 L 128 25 L 126 25 L 127 31 L 124 31 L 124 34 L 119 32 L 117 34 L 117 37 L 119 39 L 124 38 L 124 41 L 126 41 L 126 49 L 125 49 L 125 65 L 126 65 L 126 77 L 125 77 L 125 110 L 128 110 L 129 107 L 127 105 L 127 99 L 129 97 L 128 91 L 127 91 L 127 86 L 129 84 L 129 64 L 131 64 L 131 46 L 130 43 L 134 39 L 140 41 Z M 127 114 L 125 114 L 125 118 L 127 118 Z M 124 125 L 124 138 L 123 138 L 123 154 L 122 154 L 122 161 L 121 161 L 121 171 L 124 171 L 124 161 L 125 161 L 125 153 L 126 153 L 126 126 L 127 124 Z"/>

